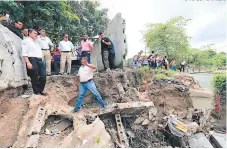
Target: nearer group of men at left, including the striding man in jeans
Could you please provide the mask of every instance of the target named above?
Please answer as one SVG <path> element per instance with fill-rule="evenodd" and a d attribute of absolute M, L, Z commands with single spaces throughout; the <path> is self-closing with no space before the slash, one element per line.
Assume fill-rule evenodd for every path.
<path fill-rule="evenodd" d="M 4 18 L 1 21 L 4 21 Z M 83 40 L 75 49 L 71 41 L 69 41 L 69 35 L 65 33 L 63 40 L 60 41 L 58 48 L 54 49 L 54 44 L 51 39 L 46 36 L 44 28 L 27 29 L 23 28 L 22 21 L 15 21 L 14 26 L 9 27 L 18 37 L 22 39 L 22 56 L 26 63 L 27 74 L 31 78 L 31 84 L 34 94 L 47 96 L 44 92 L 46 84 L 46 76 L 51 75 L 51 61 L 60 60 L 60 74 L 65 71 L 65 64 L 67 62 L 67 74 L 71 72 L 71 57 L 73 52 L 77 52 L 80 55 L 81 67 L 78 71 L 80 77 L 79 96 L 75 104 L 75 108 L 72 112 L 78 112 L 82 105 L 86 91 L 89 90 L 94 94 L 98 103 L 105 108 L 107 105 L 103 101 L 99 94 L 95 83 L 93 81 L 93 72 L 96 66 L 91 64 L 90 55 L 93 50 L 93 43 L 88 40 L 86 34 L 83 35 Z M 101 38 L 101 55 L 104 68 L 107 72 L 110 69 L 115 69 L 114 58 L 115 50 L 113 42 L 104 36 L 104 33 L 100 33 Z M 53 57 L 51 58 L 51 53 Z"/>

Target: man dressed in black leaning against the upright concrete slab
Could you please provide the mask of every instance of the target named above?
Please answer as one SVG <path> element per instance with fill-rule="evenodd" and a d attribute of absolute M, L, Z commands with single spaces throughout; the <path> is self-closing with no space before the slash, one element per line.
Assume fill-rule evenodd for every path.
<path fill-rule="evenodd" d="M 100 33 L 101 38 L 101 54 L 102 54 L 102 62 L 106 71 L 110 71 L 110 69 L 115 69 L 114 58 L 115 51 L 113 42 L 104 36 L 104 33 Z"/>

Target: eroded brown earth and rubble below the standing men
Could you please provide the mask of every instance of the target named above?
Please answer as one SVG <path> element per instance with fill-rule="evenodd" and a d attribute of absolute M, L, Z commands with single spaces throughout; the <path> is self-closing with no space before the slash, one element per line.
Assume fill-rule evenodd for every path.
<path fill-rule="evenodd" d="M 122 147 L 113 112 L 118 107 L 112 105 L 131 106 L 134 102 L 153 102 L 154 106 L 129 117 L 122 115 L 128 147 L 173 146 L 174 139 L 163 132 L 166 117 L 174 114 L 182 121 L 191 120 L 194 109 L 190 88 L 199 88 L 186 76 L 142 79 L 131 69 L 97 73 L 94 80 L 110 107 L 107 116 L 100 114 L 103 110 L 89 92 L 81 111 L 71 113 L 78 95 L 79 80 L 75 76 L 48 77 L 47 97 L 31 95 L 30 87 L 2 91 L 0 147 Z"/>

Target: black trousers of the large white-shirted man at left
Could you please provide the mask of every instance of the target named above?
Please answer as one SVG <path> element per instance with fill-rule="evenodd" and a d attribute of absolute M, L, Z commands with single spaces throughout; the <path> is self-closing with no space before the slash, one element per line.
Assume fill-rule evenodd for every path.
<path fill-rule="evenodd" d="M 46 66 L 42 59 L 28 58 L 32 69 L 27 68 L 27 74 L 31 78 L 32 89 L 35 94 L 41 93 L 46 85 Z"/>

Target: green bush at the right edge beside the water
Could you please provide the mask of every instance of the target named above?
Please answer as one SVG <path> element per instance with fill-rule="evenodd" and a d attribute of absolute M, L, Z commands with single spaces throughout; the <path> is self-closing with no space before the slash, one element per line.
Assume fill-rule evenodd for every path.
<path fill-rule="evenodd" d="M 226 90 L 226 73 L 214 74 L 211 82 L 215 93 Z"/>

